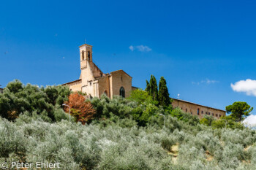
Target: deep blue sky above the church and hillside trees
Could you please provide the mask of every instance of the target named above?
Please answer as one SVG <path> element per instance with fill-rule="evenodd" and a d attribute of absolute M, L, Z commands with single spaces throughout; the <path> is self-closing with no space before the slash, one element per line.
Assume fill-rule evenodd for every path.
<path fill-rule="evenodd" d="M 256 107 L 255 7 L 255 1 L 1 1 L 0 85 L 77 80 L 78 46 L 86 39 L 103 72 L 123 69 L 134 86 L 145 88 L 154 74 L 165 77 L 174 98 L 219 109 L 234 101 Z"/>

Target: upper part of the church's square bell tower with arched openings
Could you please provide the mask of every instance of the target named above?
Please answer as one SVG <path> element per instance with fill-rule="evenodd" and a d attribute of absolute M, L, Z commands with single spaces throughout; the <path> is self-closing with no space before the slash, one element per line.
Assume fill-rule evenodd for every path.
<path fill-rule="evenodd" d="M 81 45 L 80 49 L 80 69 L 86 69 L 92 62 L 92 46 L 91 45 Z"/>

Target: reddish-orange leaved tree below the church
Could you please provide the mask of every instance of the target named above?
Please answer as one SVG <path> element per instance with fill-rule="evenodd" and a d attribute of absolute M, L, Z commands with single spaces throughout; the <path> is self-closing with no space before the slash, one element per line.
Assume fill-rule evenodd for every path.
<path fill-rule="evenodd" d="M 70 107 L 70 114 L 76 118 L 76 121 L 81 122 L 83 125 L 91 120 L 96 113 L 91 102 L 86 101 L 84 96 L 78 93 L 72 93 L 69 95 L 69 101 L 65 104 Z M 65 112 L 69 112 L 68 107 L 64 107 Z"/>

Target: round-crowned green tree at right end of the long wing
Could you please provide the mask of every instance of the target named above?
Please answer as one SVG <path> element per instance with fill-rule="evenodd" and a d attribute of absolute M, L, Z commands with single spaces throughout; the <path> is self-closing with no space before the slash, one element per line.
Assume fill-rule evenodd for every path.
<path fill-rule="evenodd" d="M 231 113 L 230 116 L 238 121 L 241 121 L 244 117 L 249 116 L 252 109 L 253 107 L 250 107 L 250 105 L 244 101 L 236 101 L 232 105 L 226 107 L 227 113 Z"/>

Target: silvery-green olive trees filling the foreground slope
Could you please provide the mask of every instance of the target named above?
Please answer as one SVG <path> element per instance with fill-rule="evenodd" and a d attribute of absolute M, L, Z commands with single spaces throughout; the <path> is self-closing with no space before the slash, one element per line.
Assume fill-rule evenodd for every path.
<path fill-rule="evenodd" d="M 255 131 L 189 125 L 168 115 L 82 125 L 22 115 L 0 119 L 0 161 L 59 162 L 61 169 L 255 169 Z M 178 147 L 178 156 L 173 156 Z"/>

